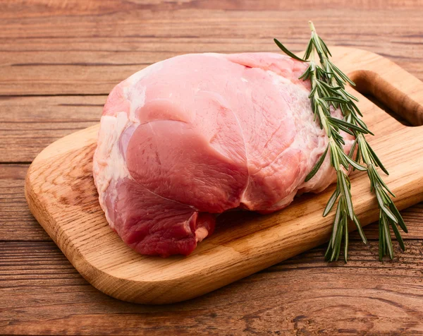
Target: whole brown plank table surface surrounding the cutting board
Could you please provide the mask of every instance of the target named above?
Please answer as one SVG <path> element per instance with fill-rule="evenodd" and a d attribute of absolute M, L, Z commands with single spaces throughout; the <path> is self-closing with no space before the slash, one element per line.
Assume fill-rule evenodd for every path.
<path fill-rule="evenodd" d="M 377 260 L 377 227 L 350 262 L 324 246 L 198 299 L 142 306 L 88 284 L 27 208 L 25 173 L 52 141 L 99 121 L 131 73 L 188 52 L 295 51 L 307 20 L 329 44 L 382 54 L 423 80 L 423 1 L 3 0 L 0 2 L 0 334 L 423 333 L 423 203 L 407 251 Z"/>

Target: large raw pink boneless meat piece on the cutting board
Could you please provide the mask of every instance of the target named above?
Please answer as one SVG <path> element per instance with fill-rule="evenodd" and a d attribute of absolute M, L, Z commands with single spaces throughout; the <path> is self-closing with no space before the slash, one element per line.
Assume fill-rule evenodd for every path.
<path fill-rule="evenodd" d="M 123 241 L 142 254 L 188 255 L 216 214 L 274 212 L 329 186 L 329 160 L 305 183 L 328 139 L 313 121 L 309 82 L 298 80 L 304 70 L 280 54 L 187 54 L 118 84 L 93 171 Z"/>

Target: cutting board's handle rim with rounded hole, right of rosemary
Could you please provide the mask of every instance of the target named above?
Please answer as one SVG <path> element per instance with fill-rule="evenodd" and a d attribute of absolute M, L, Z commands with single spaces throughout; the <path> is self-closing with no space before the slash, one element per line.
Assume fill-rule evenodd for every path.
<path fill-rule="evenodd" d="M 361 49 L 351 50 L 355 63 L 348 72 L 357 90 L 372 95 L 412 126 L 422 126 L 423 82 L 384 56 Z"/>

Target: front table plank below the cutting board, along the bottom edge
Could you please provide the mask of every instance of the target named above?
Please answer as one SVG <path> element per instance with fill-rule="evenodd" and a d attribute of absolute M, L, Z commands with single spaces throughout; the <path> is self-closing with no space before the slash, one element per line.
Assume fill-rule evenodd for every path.
<path fill-rule="evenodd" d="M 118 301 L 80 277 L 47 242 L 0 243 L 0 328 L 22 335 L 240 335 L 423 332 L 422 240 L 391 263 L 376 242 L 328 265 L 323 248 L 180 304 Z M 340 310 L 341 308 L 341 310 Z"/>

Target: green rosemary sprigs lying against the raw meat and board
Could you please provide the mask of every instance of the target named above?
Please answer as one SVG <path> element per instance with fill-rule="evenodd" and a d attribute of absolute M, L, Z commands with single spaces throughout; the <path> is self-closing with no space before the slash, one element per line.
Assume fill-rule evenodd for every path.
<path fill-rule="evenodd" d="M 278 40 L 274 39 L 274 42 L 288 56 L 293 57 L 293 59 L 308 62 L 309 66 L 302 73 L 300 79 L 310 80 L 312 83 L 309 99 L 312 103 L 314 120 L 317 119 L 319 121 L 320 127 L 324 129 L 329 138 L 328 147 L 305 179 L 305 181 L 312 179 L 329 152 L 331 166 L 336 170 L 337 184 L 335 191 L 331 198 L 329 198 L 324 209 L 323 216 L 328 215 L 337 200 L 338 204 L 336 205 L 332 235 L 326 250 L 325 259 L 329 261 L 338 260 L 341 253 L 341 243 L 344 239 L 343 255 L 345 263 L 347 262 L 348 222 L 350 221 L 355 223 L 362 241 L 364 244 L 367 244 L 360 220 L 358 220 L 354 212 L 351 183 L 347 175 L 350 167 L 360 171 L 367 171 L 370 180 L 370 190 L 376 194 L 376 200 L 379 205 L 379 260 L 382 260 L 386 254 L 392 259 L 393 246 L 390 227 L 392 227 L 393 233 L 403 251 L 405 250 L 405 246 L 397 225 L 404 232 L 407 232 L 407 227 L 389 196 L 389 194 L 393 197 L 395 195 L 393 195 L 381 179 L 376 167 L 379 167 L 385 174 L 388 174 L 388 171 L 379 160 L 379 157 L 376 156 L 369 143 L 367 143 L 366 138 L 364 138 L 365 134 L 374 134 L 369 131 L 367 125 L 360 119 L 362 113 L 355 104 L 355 102 L 358 102 L 358 99 L 345 90 L 347 83 L 350 85 L 355 84 L 330 61 L 331 52 L 329 52 L 329 48 L 324 41 L 317 35 L 311 21 L 309 21 L 309 26 L 312 35 L 302 59 L 290 52 Z M 315 54 L 319 57 L 319 62 L 315 61 Z M 341 110 L 343 119 L 336 119 L 331 116 L 331 112 L 335 109 Z M 345 141 L 341 135 L 341 131 L 355 136 L 355 141 L 348 155 L 343 151 Z M 355 155 L 355 158 L 353 158 L 353 155 Z M 360 162 L 364 165 L 360 164 Z"/>

